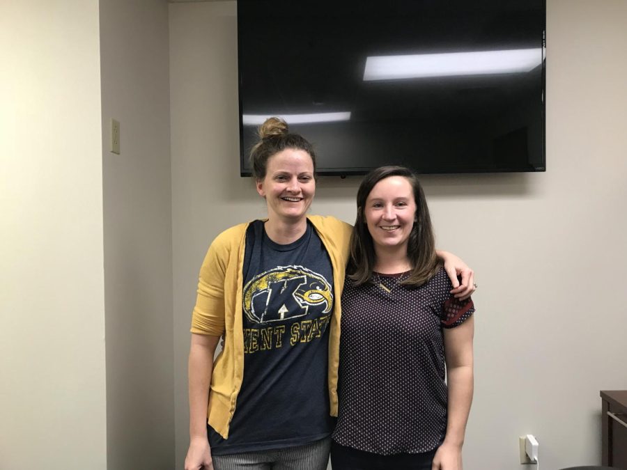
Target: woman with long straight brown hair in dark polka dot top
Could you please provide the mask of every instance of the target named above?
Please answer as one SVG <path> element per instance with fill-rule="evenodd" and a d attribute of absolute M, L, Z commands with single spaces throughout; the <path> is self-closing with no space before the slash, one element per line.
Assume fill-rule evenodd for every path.
<path fill-rule="evenodd" d="M 410 170 L 359 187 L 341 302 L 333 470 L 461 470 L 474 305 L 451 295 Z"/>

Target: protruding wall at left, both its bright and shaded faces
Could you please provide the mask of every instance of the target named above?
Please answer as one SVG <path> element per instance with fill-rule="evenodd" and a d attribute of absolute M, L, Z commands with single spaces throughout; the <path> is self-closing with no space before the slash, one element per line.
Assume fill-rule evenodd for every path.
<path fill-rule="evenodd" d="M 0 3 L 1 469 L 173 467 L 168 42 L 164 0 Z"/>

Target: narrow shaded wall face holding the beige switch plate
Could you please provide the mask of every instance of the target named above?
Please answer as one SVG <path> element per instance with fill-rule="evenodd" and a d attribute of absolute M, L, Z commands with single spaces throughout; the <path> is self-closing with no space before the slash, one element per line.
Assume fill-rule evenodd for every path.
<path fill-rule="evenodd" d="M 168 5 L 100 1 L 109 469 L 174 463 Z M 121 155 L 109 152 L 110 120 Z"/>

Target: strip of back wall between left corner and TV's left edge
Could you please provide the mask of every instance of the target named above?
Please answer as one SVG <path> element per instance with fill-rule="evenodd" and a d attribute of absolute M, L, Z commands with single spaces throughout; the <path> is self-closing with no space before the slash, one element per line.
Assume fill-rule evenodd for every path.
<path fill-rule="evenodd" d="M 220 230 L 265 207 L 237 176 L 235 28 L 232 1 L 170 5 L 176 468 L 189 444 L 187 353 L 199 263 Z"/>

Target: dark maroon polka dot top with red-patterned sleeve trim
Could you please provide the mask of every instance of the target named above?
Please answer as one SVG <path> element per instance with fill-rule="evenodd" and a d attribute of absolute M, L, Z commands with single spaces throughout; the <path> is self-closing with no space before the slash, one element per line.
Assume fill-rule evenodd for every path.
<path fill-rule="evenodd" d="M 374 274 L 342 293 L 339 416 L 333 439 L 378 453 L 421 453 L 447 429 L 443 328 L 462 324 L 472 300 L 458 301 L 444 269 L 419 288 L 408 273 Z"/>

